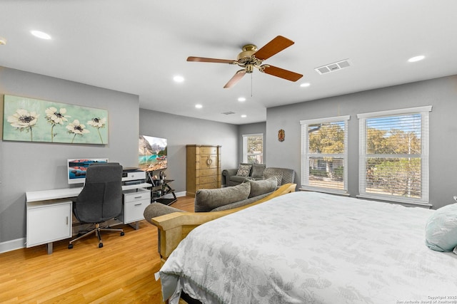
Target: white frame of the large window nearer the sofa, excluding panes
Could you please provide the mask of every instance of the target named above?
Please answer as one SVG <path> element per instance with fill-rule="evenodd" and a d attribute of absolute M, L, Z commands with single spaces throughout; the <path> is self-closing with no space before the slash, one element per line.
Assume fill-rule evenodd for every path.
<path fill-rule="evenodd" d="M 301 125 L 301 190 L 324 192 L 331 194 L 343 194 L 348 195 L 348 121 L 351 120 L 351 115 L 343 115 L 336 117 L 318 118 L 313 120 L 300 120 Z M 331 122 L 344 122 L 344 148 L 343 154 L 309 154 L 309 136 L 308 136 L 308 125 L 316 125 L 321 123 Z M 333 189 L 327 187 L 316 187 L 308 184 L 309 180 L 309 157 L 316 157 L 321 155 L 322 157 L 343 157 L 343 189 Z"/>

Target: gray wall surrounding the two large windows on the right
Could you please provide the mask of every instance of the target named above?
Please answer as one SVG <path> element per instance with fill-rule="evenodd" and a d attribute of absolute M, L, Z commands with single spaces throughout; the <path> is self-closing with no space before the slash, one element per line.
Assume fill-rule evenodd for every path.
<path fill-rule="evenodd" d="M 432 105 L 430 113 L 430 203 L 452 204 L 457 194 L 457 76 L 336 96 L 267 109 L 266 146 L 269 167 L 295 169 L 301 183 L 300 120 L 351 115 L 348 122 L 348 191 L 358 194 L 357 114 Z M 283 142 L 277 138 L 283 129 Z"/>

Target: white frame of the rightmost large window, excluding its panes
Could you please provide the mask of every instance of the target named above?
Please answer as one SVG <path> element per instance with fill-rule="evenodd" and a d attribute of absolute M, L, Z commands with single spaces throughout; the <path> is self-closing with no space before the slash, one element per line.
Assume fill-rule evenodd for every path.
<path fill-rule="evenodd" d="M 377 199 L 382 201 L 393 201 L 404 204 L 429 204 L 429 132 L 430 132 L 430 117 L 432 106 L 423 106 L 416 108 L 404 108 L 398 110 L 386 110 L 379 112 L 368 112 L 357 115 L 358 122 L 358 196 L 364 199 Z M 389 117 L 398 115 L 413 115 L 421 114 L 421 198 L 410 198 L 402 196 L 393 196 L 387 194 L 373 194 L 366 192 L 366 159 L 376 154 L 366 153 L 366 120 L 368 118 Z M 382 154 L 379 154 L 382 155 Z M 404 157 L 399 157 L 404 158 Z"/>

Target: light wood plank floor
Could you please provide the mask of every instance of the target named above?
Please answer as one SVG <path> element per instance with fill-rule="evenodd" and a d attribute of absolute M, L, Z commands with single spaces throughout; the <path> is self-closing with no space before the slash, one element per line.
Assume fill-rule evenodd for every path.
<path fill-rule="evenodd" d="M 194 211 L 194 198 L 171 206 Z M 119 227 L 119 226 L 116 226 Z M 90 236 L 67 248 L 68 241 L 0 254 L 0 303 L 161 303 L 157 229 L 123 225 L 125 236 L 102 234 L 103 248 Z"/>

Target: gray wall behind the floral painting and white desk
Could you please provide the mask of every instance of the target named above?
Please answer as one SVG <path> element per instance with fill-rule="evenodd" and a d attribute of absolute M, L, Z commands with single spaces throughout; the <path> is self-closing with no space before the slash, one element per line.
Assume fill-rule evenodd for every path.
<path fill-rule="evenodd" d="M 0 67 L 1 112 L 4 94 L 106 109 L 109 144 L 0 141 L 0 252 L 1 243 L 26 235 L 26 191 L 69 187 L 67 158 L 109 157 L 124 167 L 138 166 L 139 131 L 136 95 Z"/>

